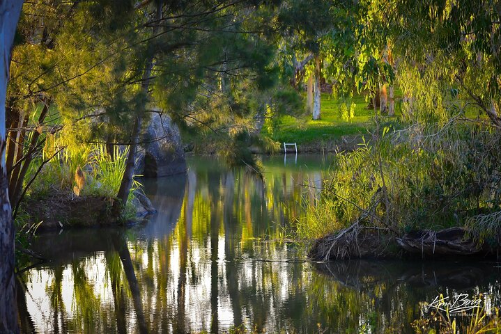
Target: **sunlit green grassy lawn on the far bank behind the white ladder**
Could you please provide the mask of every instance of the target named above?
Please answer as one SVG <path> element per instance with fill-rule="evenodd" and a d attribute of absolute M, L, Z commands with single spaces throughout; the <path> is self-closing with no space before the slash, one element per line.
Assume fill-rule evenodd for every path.
<path fill-rule="evenodd" d="M 283 116 L 279 126 L 271 133 L 270 127 L 263 129 L 263 134 L 270 136 L 280 143 L 291 142 L 298 144 L 314 143 L 318 141 L 337 141 L 341 136 L 367 134 L 367 129 L 373 126 L 373 109 L 367 109 L 367 102 L 363 95 L 353 97 L 355 102 L 355 117 L 344 120 L 341 116 L 341 102 L 334 100 L 328 94 L 322 94 L 321 120 L 312 120 L 311 114 L 294 118 Z M 395 102 L 395 111 L 400 114 L 399 102 Z"/>

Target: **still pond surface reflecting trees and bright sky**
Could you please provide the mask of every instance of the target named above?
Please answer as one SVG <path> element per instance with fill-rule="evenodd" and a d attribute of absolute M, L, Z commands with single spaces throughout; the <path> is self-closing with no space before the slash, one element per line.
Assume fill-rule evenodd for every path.
<path fill-rule="evenodd" d="M 327 164 L 326 164 L 327 161 Z M 491 295 L 494 262 L 319 264 L 272 241 L 320 196 L 329 158 L 264 157 L 264 180 L 217 159 L 143 180 L 158 213 L 134 228 L 43 234 L 22 274 L 24 333 L 412 333 L 437 294 Z"/>

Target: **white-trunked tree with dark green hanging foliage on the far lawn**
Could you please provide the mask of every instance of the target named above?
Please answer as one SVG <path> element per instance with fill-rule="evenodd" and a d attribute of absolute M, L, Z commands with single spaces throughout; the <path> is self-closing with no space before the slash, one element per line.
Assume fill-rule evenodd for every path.
<path fill-rule="evenodd" d="M 287 49 L 311 55 L 305 58 L 312 60 L 307 65 L 312 77 L 307 86 L 307 106 L 314 120 L 321 118 L 323 77 L 334 78 L 337 93 L 352 93 L 360 66 L 357 56 L 365 44 L 362 31 L 366 18 L 366 1 L 287 1 L 281 10 L 280 31 L 288 40 Z"/>

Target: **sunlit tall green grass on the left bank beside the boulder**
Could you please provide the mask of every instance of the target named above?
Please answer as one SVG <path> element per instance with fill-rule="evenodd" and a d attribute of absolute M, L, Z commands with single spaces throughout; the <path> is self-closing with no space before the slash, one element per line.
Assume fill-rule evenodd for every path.
<path fill-rule="evenodd" d="M 26 180 L 33 177 L 34 180 L 28 187 L 24 202 L 15 217 L 17 229 L 26 232 L 26 227 L 33 228 L 33 221 L 27 213 L 29 210 L 26 209 L 26 205 L 33 202 L 37 205 L 45 203 L 47 207 L 50 207 L 54 200 L 61 202 L 61 198 L 102 198 L 109 203 L 114 202 L 125 171 L 127 156 L 128 148 L 116 149 L 109 154 L 105 145 L 100 144 L 65 145 L 59 141 L 46 145 L 43 154 L 33 160 L 26 174 Z M 50 157 L 52 159 L 49 159 Z M 40 166 L 42 168 L 39 170 Z M 140 186 L 141 184 L 134 180 L 128 205 L 119 217 L 122 221 L 135 218 L 136 212 L 131 200 L 133 191 Z"/>

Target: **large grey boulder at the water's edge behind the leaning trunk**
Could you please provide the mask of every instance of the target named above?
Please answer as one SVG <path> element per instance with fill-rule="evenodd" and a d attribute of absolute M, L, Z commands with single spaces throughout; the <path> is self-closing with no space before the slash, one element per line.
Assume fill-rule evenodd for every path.
<path fill-rule="evenodd" d="M 153 113 L 142 142 L 136 158 L 136 174 L 162 177 L 185 173 L 183 142 L 169 116 Z"/>

